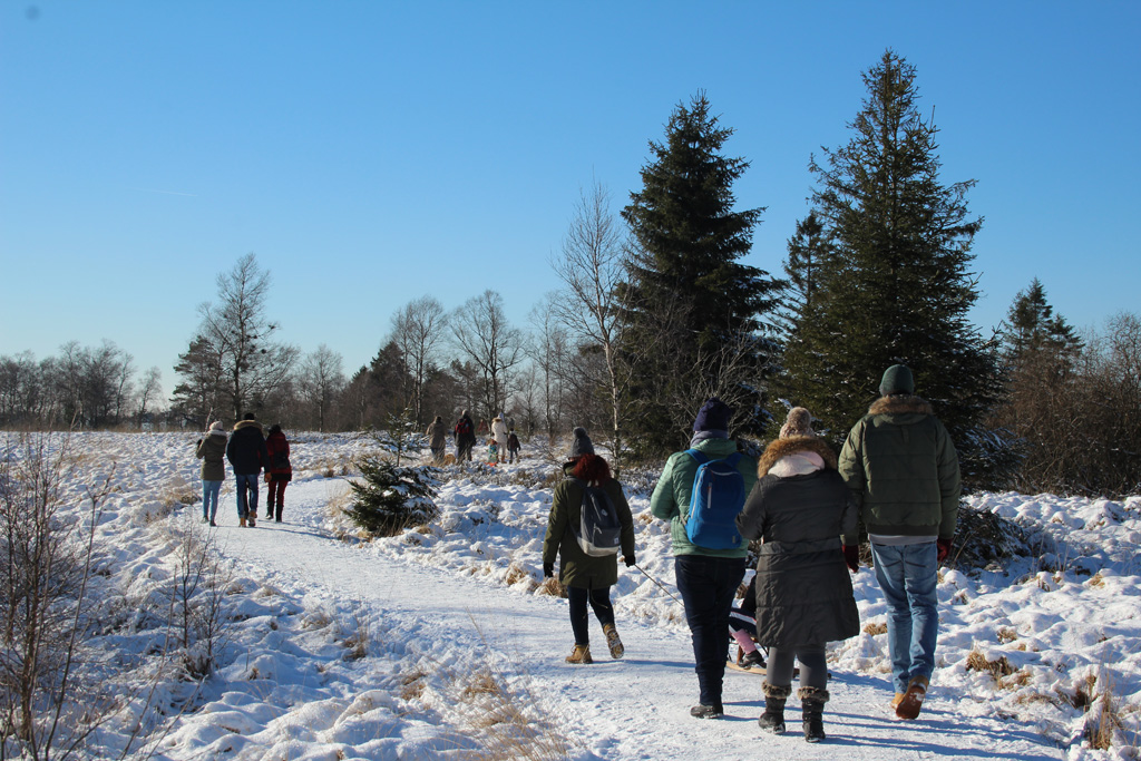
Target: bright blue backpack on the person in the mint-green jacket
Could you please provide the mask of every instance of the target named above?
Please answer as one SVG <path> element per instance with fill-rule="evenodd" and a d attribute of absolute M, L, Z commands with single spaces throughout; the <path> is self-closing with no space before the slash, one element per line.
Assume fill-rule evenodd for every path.
<path fill-rule="evenodd" d="M 706 550 L 741 547 L 742 537 L 736 523 L 745 507 L 745 479 L 737 470 L 741 452 L 734 452 L 725 460 L 710 460 L 697 450 L 686 450 L 686 454 L 697 461 L 686 536 Z"/>

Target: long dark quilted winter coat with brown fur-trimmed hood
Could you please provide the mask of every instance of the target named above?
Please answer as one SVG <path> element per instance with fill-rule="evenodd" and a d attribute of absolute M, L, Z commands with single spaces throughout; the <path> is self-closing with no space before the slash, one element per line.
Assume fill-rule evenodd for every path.
<path fill-rule="evenodd" d="M 779 477 L 768 472 L 784 456 L 822 455 L 825 467 Z M 840 535 L 855 528 L 856 505 L 835 469 L 835 454 L 822 439 L 793 437 L 769 445 L 762 477 L 737 516 L 746 539 L 762 541 L 756 560 L 756 641 L 795 649 L 859 633 Z"/>

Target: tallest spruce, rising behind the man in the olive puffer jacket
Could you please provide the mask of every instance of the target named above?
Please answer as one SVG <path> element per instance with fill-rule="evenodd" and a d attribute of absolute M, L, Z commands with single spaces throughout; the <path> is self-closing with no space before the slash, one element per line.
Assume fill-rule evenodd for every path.
<path fill-rule="evenodd" d="M 997 486 L 1013 458 L 980 423 L 1001 391 L 996 354 L 966 319 L 982 219 L 968 210 L 974 180 L 939 178 L 939 130 L 920 114 L 915 78 L 885 51 L 863 75 L 867 97 L 849 143 L 809 164 L 814 211 L 833 248 L 786 346 L 786 391 L 839 443 L 877 396 L 884 369 L 906 364 L 950 430 L 964 478 Z"/>

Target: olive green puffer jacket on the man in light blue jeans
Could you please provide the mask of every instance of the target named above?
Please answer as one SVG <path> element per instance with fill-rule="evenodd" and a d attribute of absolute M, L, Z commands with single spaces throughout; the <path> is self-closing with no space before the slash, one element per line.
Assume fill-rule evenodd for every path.
<path fill-rule="evenodd" d="M 848 434 L 840 475 L 869 534 L 954 536 L 962 489 L 958 455 L 926 400 L 876 400 Z M 856 544 L 857 537 L 843 541 Z"/>

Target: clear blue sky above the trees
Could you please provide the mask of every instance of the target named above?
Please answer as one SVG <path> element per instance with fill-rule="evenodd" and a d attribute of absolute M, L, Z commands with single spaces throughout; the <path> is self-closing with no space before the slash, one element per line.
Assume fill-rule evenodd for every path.
<path fill-rule="evenodd" d="M 164 390 L 254 252 L 269 314 L 351 373 L 394 311 L 485 289 L 526 325 L 580 191 L 615 210 L 704 90 L 780 273 L 808 162 L 891 47 L 971 211 L 985 331 L 1035 276 L 1078 327 L 1138 311 L 1138 2 L 0 0 L 0 355 L 113 340 Z"/>

